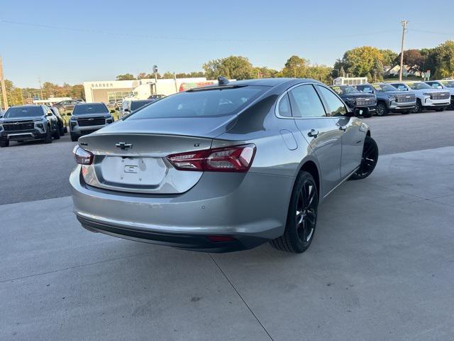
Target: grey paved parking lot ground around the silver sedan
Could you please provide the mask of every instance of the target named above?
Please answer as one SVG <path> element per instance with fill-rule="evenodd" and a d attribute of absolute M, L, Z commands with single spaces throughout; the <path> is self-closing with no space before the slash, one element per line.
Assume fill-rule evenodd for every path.
<path fill-rule="evenodd" d="M 0 340 L 453 340 L 454 112 L 366 122 L 377 168 L 328 197 L 301 255 L 87 232 L 68 136 L 2 148 Z"/>

